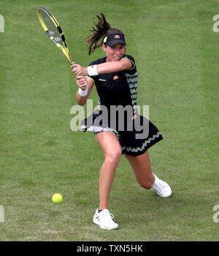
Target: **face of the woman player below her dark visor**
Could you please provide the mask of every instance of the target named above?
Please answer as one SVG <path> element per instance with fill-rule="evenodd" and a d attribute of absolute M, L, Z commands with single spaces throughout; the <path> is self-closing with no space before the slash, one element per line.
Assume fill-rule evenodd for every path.
<path fill-rule="evenodd" d="M 107 55 L 107 61 L 119 61 L 126 51 L 126 46 L 122 43 L 118 43 L 111 47 L 103 45 L 103 50 Z"/>

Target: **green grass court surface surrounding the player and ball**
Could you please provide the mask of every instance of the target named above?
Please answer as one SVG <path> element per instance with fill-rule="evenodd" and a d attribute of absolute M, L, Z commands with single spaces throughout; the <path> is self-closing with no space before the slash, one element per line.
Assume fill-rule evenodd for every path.
<path fill-rule="evenodd" d="M 110 195 L 120 228 L 101 230 L 104 159 L 91 133 L 72 132 L 77 86 L 69 62 L 39 24 L 37 7 L 61 23 L 74 60 L 88 65 L 84 38 L 104 12 L 126 34 L 139 72 L 139 105 L 164 140 L 153 171 L 172 187 L 163 199 L 139 187 L 123 157 Z M 0 241 L 218 241 L 218 1 L 3 1 L 0 33 Z M 91 93 L 93 105 L 96 91 Z M 51 197 L 61 193 L 63 203 Z"/>

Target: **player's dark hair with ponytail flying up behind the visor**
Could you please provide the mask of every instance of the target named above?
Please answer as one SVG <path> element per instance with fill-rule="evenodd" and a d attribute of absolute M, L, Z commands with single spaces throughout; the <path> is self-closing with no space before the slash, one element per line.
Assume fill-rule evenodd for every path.
<path fill-rule="evenodd" d="M 94 23 L 95 27 L 93 27 L 90 31 L 92 34 L 89 37 L 86 37 L 87 39 L 87 45 L 88 45 L 88 53 L 89 55 L 96 50 L 96 48 L 101 47 L 101 45 L 104 43 L 104 37 L 107 37 L 109 34 L 123 34 L 122 31 L 119 29 L 113 29 L 111 28 L 110 24 L 107 22 L 104 14 L 101 12 L 101 16 L 96 15 L 98 18 L 98 23 Z M 99 40 L 101 39 L 101 42 L 98 44 Z"/>

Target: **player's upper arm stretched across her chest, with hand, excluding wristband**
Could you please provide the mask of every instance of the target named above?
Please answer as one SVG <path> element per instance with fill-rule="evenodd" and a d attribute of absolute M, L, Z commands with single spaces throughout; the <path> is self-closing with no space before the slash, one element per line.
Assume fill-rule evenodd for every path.
<path fill-rule="evenodd" d="M 98 74 L 107 74 L 131 69 L 133 63 L 129 59 L 121 59 L 120 61 L 109 61 L 96 65 Z M 89 75 L 88 67 L 82 67 L 79 64 L 72 64 L 72 72 L 75 75 Z M 74 69 L 74 70 L 73 70 Z"/>

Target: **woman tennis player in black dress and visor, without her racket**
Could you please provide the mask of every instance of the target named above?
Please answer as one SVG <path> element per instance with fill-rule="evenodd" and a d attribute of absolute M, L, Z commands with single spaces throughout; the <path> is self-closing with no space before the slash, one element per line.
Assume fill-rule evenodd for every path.
<path fill-rule="evenodd" d="M 118 224 L 112 220 L 108 200 L 115 170 L 122 154 L 131 164 L 140 186 L 155 189 L 161 197 L 170 197 L 172 189 L 169 184 L 155 176 L 151 169 L 148 148 L 163 138 L 157 127 L 140 116 L 135 108 L 138 74 L 134 58 L 126 54 L 125 36 L 122 31 L 113 29 L 102 13 L 96 17 L 99 21 L 91 30 L 92 34 L 86 38 L 88 50 L 91 54 L 96 48 L 101 47 L 105 53 L 104 58 L 92 61 L 88 67 L 82 67 L 80 64 L 72 64 L 71 67 L 79 86 L 76 94 L 77 103 L 85 105 L 94 85 L 99 95 L 99 110 L 85 118 L 82 130 L 95 134 L 105 157 L 99 178 L 99 208 L 96 209 L 93 222 L 101 228 L 113 230 L 118 228 Z M 124 113 L 122 120 L 118 114 L 113 116 L 112 106 L 131 106 L 126 108 L 129 113 L 131 111 L 131 117 L 128 111 Z M 130 120 L 133 122 L 133 129 L 128 128 Z M 134 121 L 137 120 L 142 126 L 147 126 L 145 138 L 137 138 L 142 132 L 134 126 Z M 123 126 L 119 125 L 121 122 Z"/>

